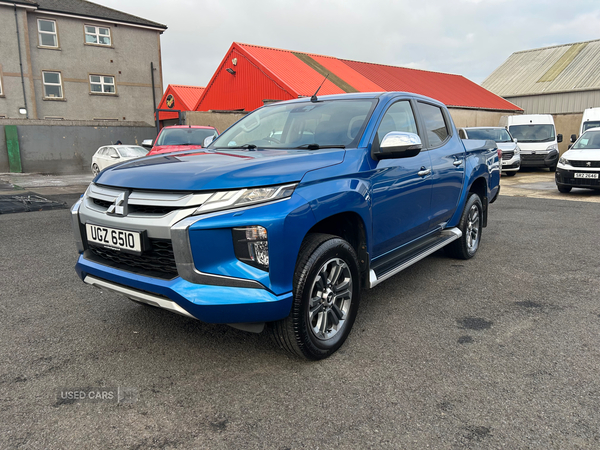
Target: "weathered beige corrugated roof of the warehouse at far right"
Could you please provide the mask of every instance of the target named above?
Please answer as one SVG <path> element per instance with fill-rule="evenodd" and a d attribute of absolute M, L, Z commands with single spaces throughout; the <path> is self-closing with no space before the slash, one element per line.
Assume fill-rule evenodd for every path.
<path fill-rule="evenodd" d="M 481 85 L 503 97 L 600 89 L 600 39 L 515 52 Z"/>

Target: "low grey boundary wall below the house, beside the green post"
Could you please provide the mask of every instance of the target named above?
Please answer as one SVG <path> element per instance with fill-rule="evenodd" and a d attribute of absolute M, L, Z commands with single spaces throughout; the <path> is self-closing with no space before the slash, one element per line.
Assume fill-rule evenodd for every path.
<path fill-rule="evenodd" d="M 1 120 L 0 172 L 9 171 L 4 125 L 17 125 L 23 172 L 87 173 L 99 147 L 156 138 L 156 128 L 145 122 Z"/>

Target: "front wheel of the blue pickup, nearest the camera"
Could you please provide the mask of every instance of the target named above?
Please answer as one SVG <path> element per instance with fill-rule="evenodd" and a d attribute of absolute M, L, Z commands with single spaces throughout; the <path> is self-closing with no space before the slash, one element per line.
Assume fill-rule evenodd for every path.
<path fill-rule="evenodd" d="M 309 234 L 296 264 L 292 310 L 285 319 L 270 324 L 271 335 L 294 355 L 327 358 L 350 334 L 359 301 L 354 248 L 337 236 Z"/>

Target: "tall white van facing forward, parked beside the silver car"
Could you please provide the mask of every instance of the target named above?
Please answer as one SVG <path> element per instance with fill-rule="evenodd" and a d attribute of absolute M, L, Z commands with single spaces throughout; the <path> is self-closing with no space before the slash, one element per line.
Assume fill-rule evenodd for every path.
<path fill-rule="evenodd" d="M 562 134 L 556 134 L 550 114 L 502 116 L 500 126 L 506 127 L 519 143 L 521 167 L 547 167 L 550 172 L 556 170 Z"/>

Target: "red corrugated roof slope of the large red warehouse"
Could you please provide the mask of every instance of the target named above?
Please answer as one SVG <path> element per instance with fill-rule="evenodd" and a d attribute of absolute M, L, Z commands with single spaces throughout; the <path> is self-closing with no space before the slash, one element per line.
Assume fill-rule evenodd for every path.
<path fill-rule="evenodd" d="M 520 111 L 518 106 L 460 75 L 349 61 L 250 44 L 234 43 L 232 48 L 247 54 L 265 74 L 279 80 L 295 96 L 314 94 L 324 79 L 323 69 L 326 69 L 336 79 L 323 84 L 319 91 L 321 95 L 352 92 L 349 87 L 359 92 L 407 91 L 435 98 L 448 106 Z M 207 90 L 210 90 L 211 84 Z"/>

